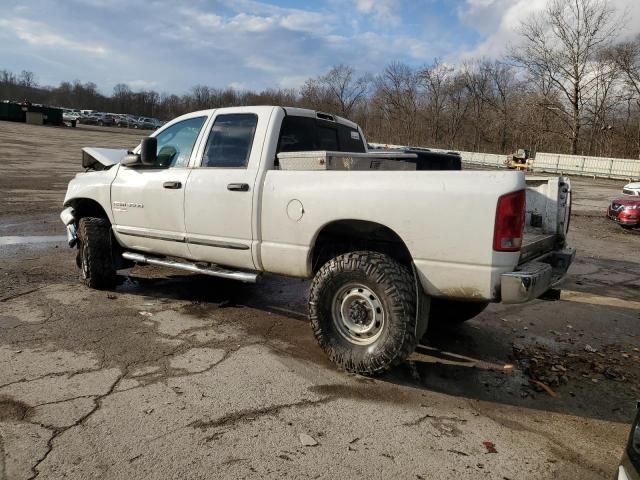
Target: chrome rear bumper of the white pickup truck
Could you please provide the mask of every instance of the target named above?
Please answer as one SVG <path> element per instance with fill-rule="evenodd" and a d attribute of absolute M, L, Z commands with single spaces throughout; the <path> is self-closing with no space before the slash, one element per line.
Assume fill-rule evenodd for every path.
<path fill-rule="evenodd" d="M 538 298 L 562 280 L 575 256 L 574 248 L 566 248 L 520 265 L 515 272 L 503 273 L 502 303 L 525 303 Z"/>

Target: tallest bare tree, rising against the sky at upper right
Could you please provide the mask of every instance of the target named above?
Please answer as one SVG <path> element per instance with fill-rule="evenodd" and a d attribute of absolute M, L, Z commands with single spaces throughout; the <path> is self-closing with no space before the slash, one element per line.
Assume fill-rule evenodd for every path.
<path fill-rule="evenodd" d="M 614 34 L 613 8 L 606 0 L 552 0 L 545 11 L 522 23 L 523 43 L 512 57 L 532 77 L 546 79 L 562 101 L 545 108 L 568 127 L 571 153 L 578 152 L 583 100 L 594 88 L 594 55 Z"/>

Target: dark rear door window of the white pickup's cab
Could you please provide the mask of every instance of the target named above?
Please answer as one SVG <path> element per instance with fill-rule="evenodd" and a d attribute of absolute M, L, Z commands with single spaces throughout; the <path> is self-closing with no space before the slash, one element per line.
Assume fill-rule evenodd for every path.
<path fill-rule="evenodd" d="M 203 167 L 247 168 L 258 116 L 253 113 L 219 115 L 209 134 Z"/>

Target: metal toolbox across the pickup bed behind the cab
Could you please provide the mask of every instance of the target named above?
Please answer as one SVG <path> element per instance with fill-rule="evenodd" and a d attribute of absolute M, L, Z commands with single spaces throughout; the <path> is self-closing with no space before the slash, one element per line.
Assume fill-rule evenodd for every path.
<path fill-rule="evenodd" d="M 282 152 L 281 170 L 415 170 L 417 155 L 397 152 Z"/>

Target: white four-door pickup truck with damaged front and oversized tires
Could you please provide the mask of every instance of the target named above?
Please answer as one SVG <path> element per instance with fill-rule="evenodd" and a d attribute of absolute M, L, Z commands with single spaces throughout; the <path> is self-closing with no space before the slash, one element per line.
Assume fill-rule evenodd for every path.
<path fill-rule="evenodd" d="M 320 346 L 372 375 L 405 360 L 428 322 L 538 298 L 574 257 L 566 179 L 414 157 L 369 152 L 356 124 L 312 110 L 194 112 L 133 152 L 83 149 L 61 219 L 93 288 L 134 263 L 313 279 Z"/>

